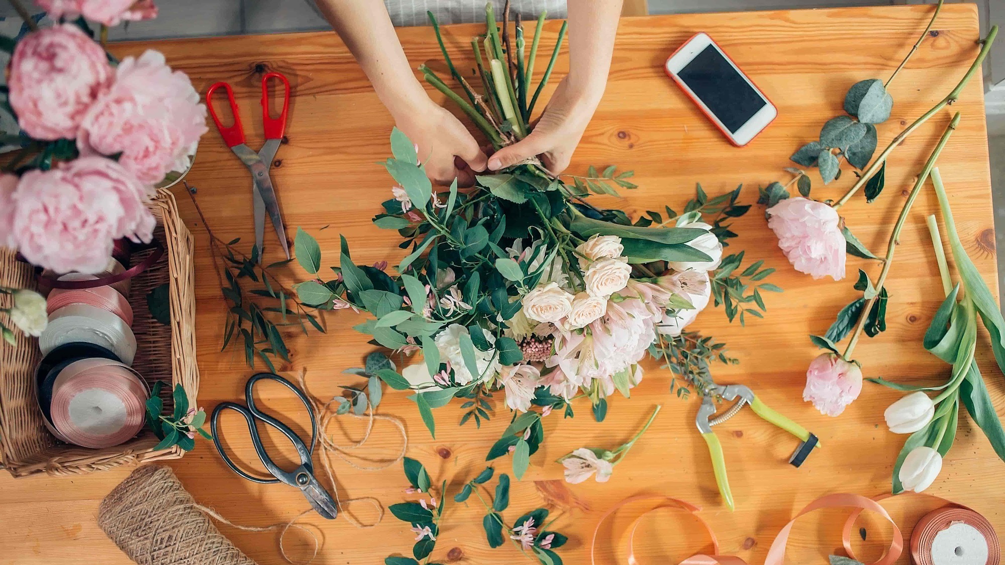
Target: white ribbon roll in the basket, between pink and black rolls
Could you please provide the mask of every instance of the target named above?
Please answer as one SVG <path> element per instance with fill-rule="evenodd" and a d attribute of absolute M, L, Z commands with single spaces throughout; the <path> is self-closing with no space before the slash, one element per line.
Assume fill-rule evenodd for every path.
<path fill-rule="evenodd" d="M 42 355 L 70 342 L 86 342 L 111 350 L 123 363 L 133 364 L 136 336 L 122 318 L 93 306 L 64 306 L 49 316 L 38 338 Z"/>

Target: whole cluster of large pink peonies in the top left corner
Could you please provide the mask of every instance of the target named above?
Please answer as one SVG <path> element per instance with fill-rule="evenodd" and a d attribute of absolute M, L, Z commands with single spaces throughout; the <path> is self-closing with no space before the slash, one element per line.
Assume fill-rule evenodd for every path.
<path fill-rule="evenodd" d="M 11 54 L 0 109 L 20 128 L 0 136 L 20 148 L 0 173 L 0 245 L 57 272 L 100 272 L 116 239 L 153 237 L 146 203 L 188 168 L 206 109 L 160 52 L 118 61 L 94 40 L 88 20 L 104 38 L 107 25 L 154 17 L 151 0 L 37 3 L 55 25 L 26 17 L 31 31 L 0 37 Z"/>

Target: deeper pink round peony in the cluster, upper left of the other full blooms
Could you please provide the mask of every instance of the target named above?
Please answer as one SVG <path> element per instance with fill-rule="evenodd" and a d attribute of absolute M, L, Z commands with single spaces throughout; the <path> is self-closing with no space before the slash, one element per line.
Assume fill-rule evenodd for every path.
<path fill-rule="evenodd" d="M 10 60 L 10 106 L 18 125 L 40 140 L 75 138 L 112 67 L 102 47 L 71 24 L 29 33 Z"/>

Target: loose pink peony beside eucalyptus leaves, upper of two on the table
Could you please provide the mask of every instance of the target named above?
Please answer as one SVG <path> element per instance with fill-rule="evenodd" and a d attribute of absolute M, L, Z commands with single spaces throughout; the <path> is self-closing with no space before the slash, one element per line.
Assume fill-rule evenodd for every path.
<path fill-rule="evenodd" d="M 768 227 L 792 266 L 813 278 L 844 278 L 844 235 L 837 210 L 816 200 L 786 198 L 768 209 Z"/>

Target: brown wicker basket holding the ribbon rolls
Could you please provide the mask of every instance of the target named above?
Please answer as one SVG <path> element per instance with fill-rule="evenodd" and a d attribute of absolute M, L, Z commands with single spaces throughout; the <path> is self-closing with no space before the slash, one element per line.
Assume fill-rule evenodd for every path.
<path fill-rule="evenodd" d="M 174 408 L 171 390 L 176 384 L 185 388 L 189 404 L 197 405 L 194 243 L 192 234 L 178 216 L 171 192 L 159 190 L 150 208 L 157 219 L 154 236 L 166 250 L 151 268 L 133 278 L 129 300 L 135 313 L 133 332 L 138 343 L 134 367 L 149 384 L 154 381 L 171 384 L 165 386 L 163 392 L 165 413 L 171 413 Z M 136 253 L 133 261 L 143 260 L 150 252 Z M 151 317 L 146 300 L 152 289 L 165 282 L 170 284 L 171 290 L 170 328 Z M 2 247 L 0 286 L 37 288 L 33 267 L 15 260 L 14 253 Z M 0 297 L 2 299 L 9 300 L 9 297 Z M 0 304 L 0 308 L 9 306 Z M 33 380 L 41 358 L 38 342 L 18 330 L 14 334 L 16 347 L 0 340 L 0 461 L 11 475 L 82 475 L 126 463 L 175 459 L 184 454 L 177 445 L 154 451 L 158 439 L 146 427 L 126 443 L 104 449 L 88 449 L 57 440 L 46 429 L 35 399 Z"/>

